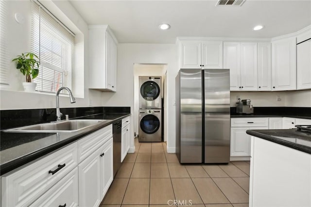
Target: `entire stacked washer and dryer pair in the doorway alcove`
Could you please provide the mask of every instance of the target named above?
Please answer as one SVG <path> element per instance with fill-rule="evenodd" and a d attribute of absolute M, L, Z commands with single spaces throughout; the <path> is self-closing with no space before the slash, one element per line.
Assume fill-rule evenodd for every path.
<path fill-rule="evenodd" d="M 161 87 L 161 77 L 139 76 L 139 142 L 162 140 Z"/>

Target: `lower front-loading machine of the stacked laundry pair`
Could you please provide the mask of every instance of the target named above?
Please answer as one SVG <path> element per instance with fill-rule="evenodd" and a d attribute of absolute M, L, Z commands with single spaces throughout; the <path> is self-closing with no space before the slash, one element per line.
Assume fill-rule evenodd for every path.
<path fill-rule="evenodd" d="M 161 110 L 160 109 L 140 109 L 139 115 L 139 142 L 156 142 L 162 140 Z"/>

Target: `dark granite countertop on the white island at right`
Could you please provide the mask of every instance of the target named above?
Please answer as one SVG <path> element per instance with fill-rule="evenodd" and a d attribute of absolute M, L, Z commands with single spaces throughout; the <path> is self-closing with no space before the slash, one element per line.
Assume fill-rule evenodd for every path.
<path fill-rule="evenodd" d="M 311 133 L 297 129 L 247 130 L 247 134 L 311 154 Z"/>

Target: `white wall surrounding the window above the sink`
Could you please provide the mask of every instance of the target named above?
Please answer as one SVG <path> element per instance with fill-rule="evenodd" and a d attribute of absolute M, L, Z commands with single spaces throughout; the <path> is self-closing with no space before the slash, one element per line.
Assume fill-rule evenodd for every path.
<path fill-rule="evenodd" d="M 9 59 L 13 59 L 21 52 L 30 51 L 30 23 L 31 23 L 31 3 L 28 0 L 7 1 L 8 3 L 8 25 L 7 28 L 7 46 Z M 80 94 L 84 94 L 84 98 L 77 98 L 75 104 L 70 104 L 69 97 L 60 97 L 60 107 L 83 107 L 89 105 L 89 98 L 92 99 L 93 106 L 103 106 L 102 95 L 100 91 L 88 89 L 88 26 L 80 17 L 76 10 L 68 1 L 43 1 L 45 6 L 53 12 L 66 25 L 71 26 L 70 29 L 78 31 L 77 39 L 82 39 L 83 45 L 79 48 L 84 49 L 80 54 L 83 55 L 84 61 L 80 69 L 84 70 L 84 79 L 75 83 L 78 88 L 84 90 Z M 14 19 L 15 13 L 21 13 L 25 17 L 24 24 L 18 24 Z M 84 40 L 84 41 L 83 41 Z M 81 58 L 83 59 L 83 58 Z M 23 92 L 21 83 L 25 77 L 15 68 L 15 64 L 10 62 L 9 65 L 9 86 L 1 87 L 0 90 L 0 106 L 1 110 L 5 109 L 30 109 L 30 108 L 53 108 L 56 107 L 55 95 L 27 93 Z M 84 83 L 84 88 L 81 87 Z M 79 91 L 77 91 L 78 93 Z"/>

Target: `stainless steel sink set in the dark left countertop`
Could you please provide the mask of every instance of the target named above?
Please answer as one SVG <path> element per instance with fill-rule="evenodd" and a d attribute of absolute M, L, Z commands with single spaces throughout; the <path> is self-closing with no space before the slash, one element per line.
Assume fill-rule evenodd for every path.
<path fill-rule="evenodd" d="M 23 126 L 18 128 L 12 128 L 3 130 L 4 132 L 78 132 L 88 127 L 95 126 L 96 124 L 107 122 L 110 120 L 68 120 L 68 121 L 56 121 L 50 123 L 41 123 L 30 126 Z"/>

